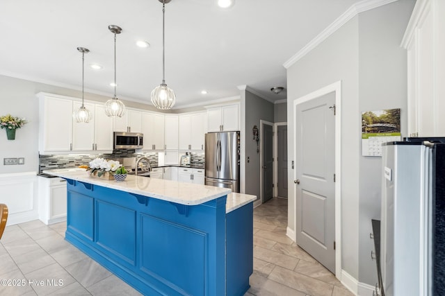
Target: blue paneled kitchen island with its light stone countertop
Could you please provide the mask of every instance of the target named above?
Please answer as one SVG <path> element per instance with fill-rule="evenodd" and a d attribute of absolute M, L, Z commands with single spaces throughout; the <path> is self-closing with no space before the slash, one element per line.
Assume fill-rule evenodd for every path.
<path fill-rule="evenodd" d="M 65 239 L 144 295 L 244 295 L 253 195 L 129 175 L 67 180 Z"/>

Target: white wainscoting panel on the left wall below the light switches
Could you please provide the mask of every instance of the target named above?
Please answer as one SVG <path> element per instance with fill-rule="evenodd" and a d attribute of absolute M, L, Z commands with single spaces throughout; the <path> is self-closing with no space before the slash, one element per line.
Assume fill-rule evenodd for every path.
<path fill-rule="evenodd" d="M 8 206 L 8 223 L 38 219 L 38 186 L 35 172 L 0 174 L 0 203 Z"/>

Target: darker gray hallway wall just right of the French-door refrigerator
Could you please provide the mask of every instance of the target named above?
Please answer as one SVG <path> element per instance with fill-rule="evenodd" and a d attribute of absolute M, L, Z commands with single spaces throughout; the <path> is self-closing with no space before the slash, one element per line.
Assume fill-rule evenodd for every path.
<path fill-rule="evenodd" d="M 245 91 L 245 134 L 241 135 L 245 141 L 245 192 L 257 195 L 260 198 L 259 179 L 259 153 L 257 153 L 257 142 L 253 141 L 252 128 L 257 125 L 260 128 L 260 120 L 273 123 L 273 103 Z M 241 120 L 243 114 L 241 114 Z M 247 162 L 248 157 L 250 162 Z M 241 159 L 243 161 L 243 159 Z"/>

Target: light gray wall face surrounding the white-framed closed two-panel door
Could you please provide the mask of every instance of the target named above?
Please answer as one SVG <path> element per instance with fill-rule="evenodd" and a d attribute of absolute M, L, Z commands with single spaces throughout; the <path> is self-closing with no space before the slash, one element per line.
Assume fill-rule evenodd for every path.
<path fill-rule="evenodd" d="M 342 267 L 358 279 L 358 18 L 354 17 L 287 71 L 289 227 L 295 227 L 293 101 L 341 80 Z M 298 164 L 296 164 L 298 165 Z"/>

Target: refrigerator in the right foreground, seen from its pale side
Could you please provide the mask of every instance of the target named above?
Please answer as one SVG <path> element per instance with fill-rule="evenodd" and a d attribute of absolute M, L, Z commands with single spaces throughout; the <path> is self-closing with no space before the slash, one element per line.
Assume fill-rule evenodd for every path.
<path fill-rule="evenodd" d="M 445 295 L 445 139 L 382 146 L 382 294 Z"/>

